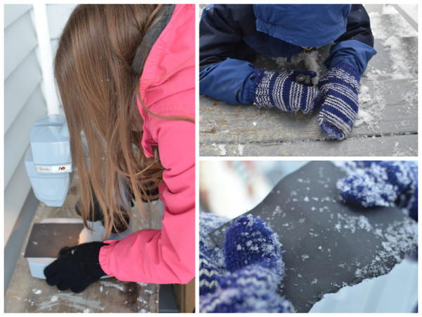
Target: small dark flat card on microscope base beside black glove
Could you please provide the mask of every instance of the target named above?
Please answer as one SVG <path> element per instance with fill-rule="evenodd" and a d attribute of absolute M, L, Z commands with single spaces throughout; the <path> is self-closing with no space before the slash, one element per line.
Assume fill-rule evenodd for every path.
<path fill-rule="evenodd" d="M 83 223 L 34 223 L 25 258 L 56 258 L 63 247 L 77 245 Z"/>

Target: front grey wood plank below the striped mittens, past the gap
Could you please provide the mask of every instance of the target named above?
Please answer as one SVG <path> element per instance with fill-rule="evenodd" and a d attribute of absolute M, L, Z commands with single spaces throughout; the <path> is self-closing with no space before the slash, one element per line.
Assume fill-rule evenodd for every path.
<path fill-rule="evenodd" d="M 418 135 L 350 137 L 343 141 L 201 144 L 202 156 L 417 156 Z"/>

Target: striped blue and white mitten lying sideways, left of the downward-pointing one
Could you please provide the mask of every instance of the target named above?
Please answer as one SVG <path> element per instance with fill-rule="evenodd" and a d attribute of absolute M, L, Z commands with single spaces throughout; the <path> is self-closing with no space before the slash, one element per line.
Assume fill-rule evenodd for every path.
<path fill-rule="evenodd" d="M 255 104 L 257 107 L 276 107 L 282 111 L 311 113 L 321 104 L 321 93 L 315 87 L 295 82 L 297 75 L 316 76 L 312 71 L 255 70 Z"/>

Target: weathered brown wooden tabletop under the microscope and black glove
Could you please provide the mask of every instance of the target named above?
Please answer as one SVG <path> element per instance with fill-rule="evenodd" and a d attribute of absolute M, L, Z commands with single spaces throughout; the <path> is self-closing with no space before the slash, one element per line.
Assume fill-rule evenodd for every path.
<path fill-rule="evenodd" d="M 57 209 L 43 203 L 35 213 L 33 223 L 39 223 L 44 218 L 78 218 L 75 203 L 79 195 L 75 188 L 77 176 L 74 175 L 72 187 L 63 207 Z M 137 221 L 132 221 L 135 228 L 160 228 L 160 215 L 145 204 L 147 211 L 151 211 L 151 220 L 141 219 L 134 206 L 133 214 Z M 160 206 L 155 204 L 155 208 Z M 32 228 L 32 226 L 31 226 Z M 89 285 L 82 293 L 75 294 L 68 291 L 60 292 L 56 287 L 46 284 L 45 280 L 32 278 L 27 260 L 23 258 L 27 240 L 21 250 L 13 277 L 4 299 L 6 313 L 23 312 L 51 312 L 51 313 L 137 313 L 158 312 L 158 285 L 122 282 L 115 278 L 103 278 Z"/>

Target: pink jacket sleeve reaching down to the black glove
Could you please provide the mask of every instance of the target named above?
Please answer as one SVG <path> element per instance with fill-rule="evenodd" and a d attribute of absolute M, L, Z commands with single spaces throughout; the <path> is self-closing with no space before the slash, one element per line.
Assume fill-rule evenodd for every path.
<path fill-rule="evenodd" d="M 165 168 L 162 228 L 108 241 L 99 261 L 118 280 L 184 284 L 195 276 L 195 125 L 151 116 L 151 127 Z"/>

